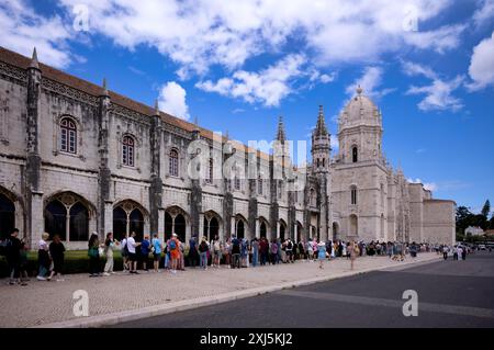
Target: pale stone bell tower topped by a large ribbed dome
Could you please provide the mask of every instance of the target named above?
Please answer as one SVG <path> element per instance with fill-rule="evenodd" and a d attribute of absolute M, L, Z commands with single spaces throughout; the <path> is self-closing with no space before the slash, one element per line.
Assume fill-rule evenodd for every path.
<path fill-rule="evenodd" d="M 339 150 L 332 165 L 333 226 L 341 238 L 388 239 L 388 178 L 382 118 L 360 86 L 339 115 Z M 346 237 L 345 237 L 346 236 Z"/>

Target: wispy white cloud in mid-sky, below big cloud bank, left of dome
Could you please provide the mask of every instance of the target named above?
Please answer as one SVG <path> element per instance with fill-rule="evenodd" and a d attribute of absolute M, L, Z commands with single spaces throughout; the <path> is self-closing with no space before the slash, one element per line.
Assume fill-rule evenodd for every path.
<path fill-rule="evenodd" d="M 222 78 L 216 82 L 200 81 L 197 88 L 232 98 L 242 98 L 246 102 L 261 102 L 267 106 L 277 106 L 293 90 L 291 83 L 299 76 L 306 59 L 303 55 L 289 55 L 277 64 L 259 72 L 237 70 L 232 78 Z"/>

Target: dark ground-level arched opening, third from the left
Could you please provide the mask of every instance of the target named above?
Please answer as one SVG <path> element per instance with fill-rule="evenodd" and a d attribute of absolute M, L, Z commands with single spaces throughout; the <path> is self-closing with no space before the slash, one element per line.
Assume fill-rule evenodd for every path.
<path fill-rule="evenodd" d="M 134 232 L 136 240 L 143 240 L 145 215 L 144 207 L 132 200 L 116 204 L 113 208 L 113 237 L 123 239 Z"/>

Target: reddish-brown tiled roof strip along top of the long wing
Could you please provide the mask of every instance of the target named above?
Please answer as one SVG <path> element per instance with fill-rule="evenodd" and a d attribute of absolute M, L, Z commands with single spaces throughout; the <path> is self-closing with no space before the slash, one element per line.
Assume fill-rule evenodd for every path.
<path fill-rule="evenodd" d="M 7 49 L 2 46 L 0 46 L 0 60 L 21 68 L 21 69 L 27 69 L 30 64 L 31 64 L 31 58 L 25 57 L 23 55 L 20 55 L 18 53 L 14 53 L 10 49 Z M 100 97 L 103 94 L 103 88 L 100 86 L 97 86 L 92 82 L 89 82 L 87 80 L 77 78 L 75 76 L 71 76 L 69 74 L 66 74 L 61 70 L 55 69 L 50 66 L 44 65 L 42 63 L 40 63 L 40 69 L 42 71 L 43 77 L 48 78 L 50 80 L 54 80 L 56 82 L 59 82 L 61 84 L 68 86 L 70 88 L 83 91 L 88 94 L 94 95 L 94 97 Z M 112 100 L 112 103 L 119 104 L 121 106 L 124 106 L 128 110 L 135 111 L 137 113 L 141 114 L 145 114 L 145 115 L 154 115 L 155 109 L 151 106 L 148 106 L 144 103 L 134 101 L 132 99 L 128 99 L 122 94 L 119 94 L 116 92 L 113 91 L 109 91 L 110 94 L 110 99 Z M 170 115 L 168 113 L 164 113 L 164 112 L 159 112 L 160 113 L 160 117 L 164 122 L 171 124 L 173 126 L 180 127 L 187 132 L 192 132 L 193 129 L 195 129 L 198 126 L 195 126 L 192 123 L 189 123 L 184 120 L 181 120 L 179 117 L 176 117 L 173 115 Z M 199 126 L 199 129 L 201 132 L 201 135 L 205 138 L 209 139 L 213 139 L 213 132 L 203 127 Z M 223 136 L 223 139 L 225 139 L 225 137 Z M 238 150 L 243 150 L 243 151 L 249 151 L 252 150 L 251 148 L 247 147 L 244 144 L 238 144 L 235 143 L 235 147 Z M 255 151 L 255 150 L 252 150 Z M 260 153 L 260 157 L 263 159 L 269 160 L 270 156 L 266 153 Z"/>

